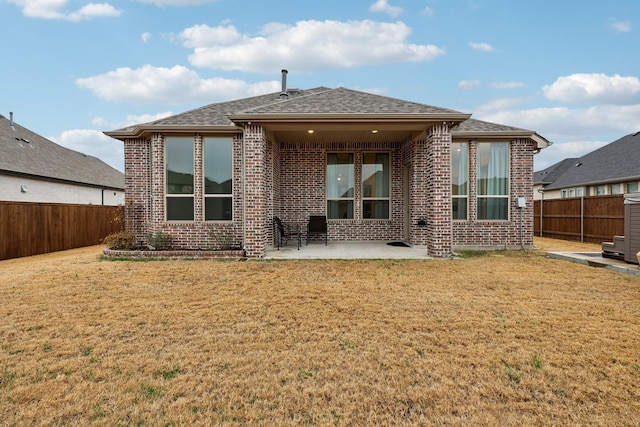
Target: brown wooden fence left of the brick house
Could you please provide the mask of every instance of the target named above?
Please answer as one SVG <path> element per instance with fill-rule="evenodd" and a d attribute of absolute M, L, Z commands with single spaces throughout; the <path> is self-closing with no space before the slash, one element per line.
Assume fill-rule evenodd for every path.
<path fill-rule="evenodd" d="M 0 260 L 99 244 L 122 229 L 119 206 L 0 202 Z"/>

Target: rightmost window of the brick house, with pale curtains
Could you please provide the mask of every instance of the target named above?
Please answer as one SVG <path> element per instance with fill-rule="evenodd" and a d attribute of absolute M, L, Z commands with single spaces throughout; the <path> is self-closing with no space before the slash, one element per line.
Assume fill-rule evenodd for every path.
<path fill-rule="evenodd" d="M 478 219 L 509 218 L 509 143 L 478 144 Z"/>

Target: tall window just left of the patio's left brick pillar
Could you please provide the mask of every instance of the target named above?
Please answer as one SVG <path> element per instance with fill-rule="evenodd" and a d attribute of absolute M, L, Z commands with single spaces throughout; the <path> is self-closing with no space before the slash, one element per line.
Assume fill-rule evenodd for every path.
<path fill-rule="evenodd" d="M 233 139 L 204 139 L 204 219 L 233 219 Z"/>

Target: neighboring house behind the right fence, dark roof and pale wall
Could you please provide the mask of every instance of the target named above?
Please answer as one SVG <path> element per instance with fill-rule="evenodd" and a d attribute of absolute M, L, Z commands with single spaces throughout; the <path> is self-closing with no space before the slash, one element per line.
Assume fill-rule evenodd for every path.
<path fill-rule="evenodd" d="M 534 198 L 542 193 L 545 200 L 637 193 L 639 152 L 636 132 L 580 158 L 564 159 L 534 174 Z"/>

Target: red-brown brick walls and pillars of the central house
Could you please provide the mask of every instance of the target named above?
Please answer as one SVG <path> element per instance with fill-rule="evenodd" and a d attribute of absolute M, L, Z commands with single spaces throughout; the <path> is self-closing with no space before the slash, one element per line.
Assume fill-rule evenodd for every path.
<path fill-rule="evenodd" d="M 164 220 L 164 139 L 125 141 L 125 185 L 128 229 L 140 241 L 147 232 L 162 231 L 184 249 L 218 248 L 227 240 L 242 244 L 247 256 L 261 257 L 273 244 L 273 216 L 304 230 L 309 215 L 326 214 L 327 152 L 354 153 L 356 166 L 355 219 L 332 220 L 329 239 L 400 240 L 404 228 L 403 170 L 408 168 L 410 243 L 428 248 L 432 256 L 448 256 L 452 247 L 517 247 L 520 245 L 520 210 L 517 197 L 525 197 L 522 211 L 523 244 L 533 244 L 533 142 L 511 143 L 511 203 L 508 221 L 477 221 L 477 143 L 469 143 L 469 220 L 451 221 L 450 141 L 445 125 L 435 126 L 425 140 L 403 143 L 277 143 L 260 126 L 249 125 L 238 134 L 233 148 L 233 221 L 204 222 L 202 209 L 203 138 L 194 137 L 195 221 Z M 244 146 L 244 151 L 243 151 Z M 360 170 L 363 152 L 389 152 L 391 200 L 389 220 L 362 220 Z M 243 166 L 243 158 L 246 166 Z M 246 181 L 244 180 L 246 178 Z M 243 193 L 246 197 L 243 197 Z M 246 210 L 247 221 L 242 222 Z M 421 219 L 426 226 L 418 225 Z M 245 241 L 243 242 L 243 236 Z"/>

